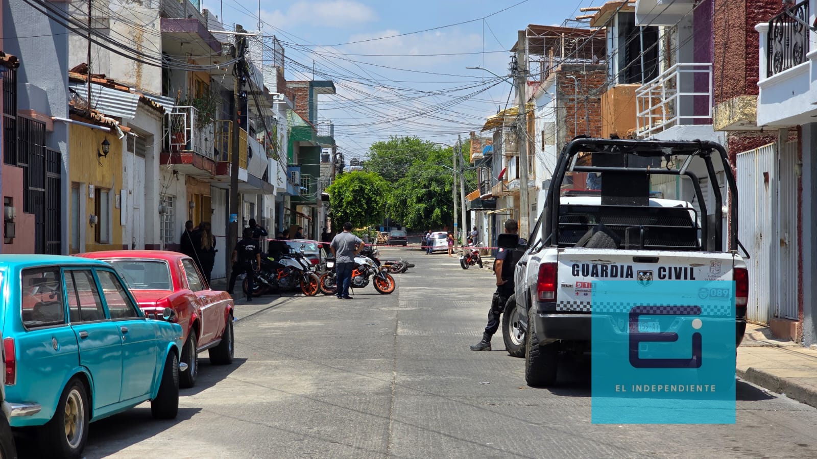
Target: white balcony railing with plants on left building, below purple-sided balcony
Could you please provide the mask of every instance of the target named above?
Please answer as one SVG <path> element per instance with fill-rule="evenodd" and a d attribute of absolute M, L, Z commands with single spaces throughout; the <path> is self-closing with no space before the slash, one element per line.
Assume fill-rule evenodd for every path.
<path fill-rule="evenodd" d="M 198 110 L 191 106 L 174 107 L 169 114 L 165 114 L 165 138 L 170 153 L 193 151 L 213 159 L 213 125 L 200 126 L 198 116 Z"/>

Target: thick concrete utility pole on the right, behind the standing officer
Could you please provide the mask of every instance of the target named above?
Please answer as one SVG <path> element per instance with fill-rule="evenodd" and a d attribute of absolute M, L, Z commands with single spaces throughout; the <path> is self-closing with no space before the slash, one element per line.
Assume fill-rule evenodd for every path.
<path fill-rule="evenodd" d="M 516 136 L 519 145 L 519 234 L 528 237 L 528 121 L 526 113 L 528 92 L 528 38 L 527 30 L 520 30 L 516 38 L 516 103 L 519 104 L 519 118 Z"/>

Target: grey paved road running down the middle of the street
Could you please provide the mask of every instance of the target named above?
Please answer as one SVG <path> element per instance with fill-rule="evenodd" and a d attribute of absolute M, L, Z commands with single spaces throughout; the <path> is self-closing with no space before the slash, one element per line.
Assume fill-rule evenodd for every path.
<path fill-rule="evenodd" d="M 743 382 L 735 426 L 592 425 L 589 365 L 532 389 L 502 336 L 493 352 L 468 350 L 489 270 L 382 252 L 417 264 L 397 292 L 241 301 L 236 362 L 203 359 L 175 421 L 143 405 L 92 424 L 86 456 L 817 457 L 817 410 Z"/>

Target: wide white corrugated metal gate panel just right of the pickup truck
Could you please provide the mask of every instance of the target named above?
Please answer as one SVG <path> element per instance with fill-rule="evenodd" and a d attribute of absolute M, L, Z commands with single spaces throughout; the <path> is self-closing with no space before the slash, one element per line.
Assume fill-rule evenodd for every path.
<path fill-rule="evenodd" d="M 751 256 L 746 265 L 749 285 L 754 287 L 749 291 L 747 318 L 762 324 L 769 323 L 770 303 L 777 297 L 775 283 L 771 280 L 775 276 L 777 265 L 776 151 L 776 144 L 763 145 L 739 153 L 735 162 L 738 179 L 738 238 Z"/>

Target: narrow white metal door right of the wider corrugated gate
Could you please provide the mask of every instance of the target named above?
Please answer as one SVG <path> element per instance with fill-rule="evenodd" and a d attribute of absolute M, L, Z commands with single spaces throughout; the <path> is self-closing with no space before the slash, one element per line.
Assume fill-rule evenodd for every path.
<path fill-rule="evenodd" d="M 797 142 L 787 142 L 779 155 L 777 316 L 800 319 L 797 307 Z"/>

